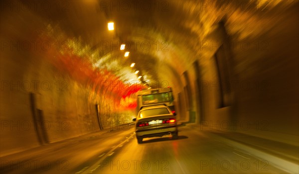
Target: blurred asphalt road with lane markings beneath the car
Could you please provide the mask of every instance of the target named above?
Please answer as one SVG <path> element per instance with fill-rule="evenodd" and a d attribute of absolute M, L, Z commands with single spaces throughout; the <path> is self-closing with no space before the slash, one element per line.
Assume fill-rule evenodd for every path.
<path fill-rule="evenodd" d="M 282 174 L 267 159 L 210 138 L 192 126 L 179 137 L 146 138 L 138 144 L 133 125 L 63 142 L 26 161 L 13 161 L 13 174 Z"/>

